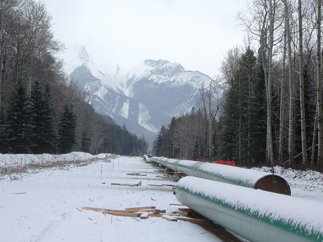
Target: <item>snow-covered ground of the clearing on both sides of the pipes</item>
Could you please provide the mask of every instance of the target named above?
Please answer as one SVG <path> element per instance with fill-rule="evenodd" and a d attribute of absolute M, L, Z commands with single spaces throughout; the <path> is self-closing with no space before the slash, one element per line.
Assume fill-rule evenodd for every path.
<path fill-rule="evenodd" d="M 81 152 L 64 156 L 0 154 L 0 171 L 3 173 L 4 162 L 6 169 L 11 171 L 9 174 L 0 174 L 0 241 L 222 241 L 189 222 L 169 222 L 157 217 L 139 220 L 82 209 L 98 207 L 123 210 L 156 206 L 172 212 L 179 207 L 169 205 L 179 203 L 171 186 L 148 185 L 176 182 L 156 177 L 162 174 L 155 172 L 156 168 L 145 163 L 143 158 L 109 157 L 106 159 L 106 154 L 91 156 Z M 70 164 L 78 160 L 87 162 Z M 22 173 L 17 174 L 17 163 Z M 55 166 L 37 168 L 45 164 Z M 268 169 L 259 170 L 267 172 Z M 275 172 L 290 183 L 292 196 L 323 201 L 321 173 L 278 167 Z M 126 175 L 129 173 L 147 176 Z M 138 182 L 141 182 L 141 186 L 111 185 Z"/>

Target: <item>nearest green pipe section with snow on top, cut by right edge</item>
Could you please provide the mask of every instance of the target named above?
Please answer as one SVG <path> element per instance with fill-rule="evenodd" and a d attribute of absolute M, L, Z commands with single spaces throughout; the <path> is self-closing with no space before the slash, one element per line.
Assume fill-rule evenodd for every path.
<path fill-rule="evenodd" d="M 323 203 L 185 177 L 177 200 L 251 242 L 323 241 Z"/>

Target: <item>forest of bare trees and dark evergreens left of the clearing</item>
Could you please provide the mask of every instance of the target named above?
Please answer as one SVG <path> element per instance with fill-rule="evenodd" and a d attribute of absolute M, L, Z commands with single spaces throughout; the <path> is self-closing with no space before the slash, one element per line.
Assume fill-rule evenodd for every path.
<path fill-rule="evenodd" d="M 51 28 L 44 3 L 0 1 L 0 153 L 145 154 L 145 137 L 95 114 L 66 76 Z"/>

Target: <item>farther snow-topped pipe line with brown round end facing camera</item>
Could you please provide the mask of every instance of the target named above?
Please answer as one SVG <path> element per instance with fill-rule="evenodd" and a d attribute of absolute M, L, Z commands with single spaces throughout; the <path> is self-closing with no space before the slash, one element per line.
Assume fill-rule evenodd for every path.
<path fill-rule="evenodd" d="M 148 161 L 154 161 L 171 170 L 184 173 L 187 176 L 251 187 L 285 195 L 291 194 L 288 182 L 282 177 L 272 175 L 271 173 L 214 163 L 175 160 L 163 157 L 152 157 L 148 159 Z"/>

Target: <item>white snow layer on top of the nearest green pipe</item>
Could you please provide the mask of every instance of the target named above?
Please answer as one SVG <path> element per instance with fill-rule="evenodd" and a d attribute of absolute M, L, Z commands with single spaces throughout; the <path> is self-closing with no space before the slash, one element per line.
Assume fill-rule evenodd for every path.
<path fill-rule="evenodd" d="M 312 233 L 323 235 L 322 201 L 194 177 L 181 179 L 177 184 L 177 189 L 201 194 L 203 198 L 219 201 L 234 210 L 247 211 L 250 216 L 259 219 L 265 217 L 270 222 L 282 221 L 284 224 L 291 224 L 294 228 L 303 229 L 308 235 Z"/>

